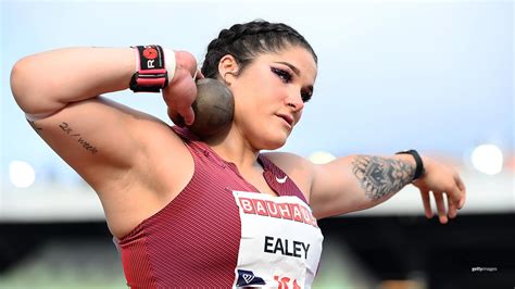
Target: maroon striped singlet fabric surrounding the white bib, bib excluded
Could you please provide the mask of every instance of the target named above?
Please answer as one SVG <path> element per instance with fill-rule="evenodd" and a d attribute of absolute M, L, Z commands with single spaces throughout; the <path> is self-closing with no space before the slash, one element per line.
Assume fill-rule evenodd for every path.
<path fill-rule="evenodd" d="M 189 130 L 173 127 L 185 141 L 194 173 L 184 190 L 160 212 L 123 237 L 122 263 L 131 288 L 230 288 L 241 237 L 241 223 L 233 190 L 258 191 L 234 163 L 222 160 Z M 263 176 L 278 196 L 303 193 L 286 174 L 259 155 Z M 180 169 L 180 167 L 177 167 Z"/>

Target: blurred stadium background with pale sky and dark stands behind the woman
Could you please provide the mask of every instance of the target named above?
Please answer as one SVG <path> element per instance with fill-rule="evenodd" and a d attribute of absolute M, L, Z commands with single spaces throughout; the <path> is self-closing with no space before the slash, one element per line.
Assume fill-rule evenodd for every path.
<path fill-rule="evenodd" d="M 0 288 L 126 288 L 95 192 L 12 98 L 15 61 L 139 43 L 202 60 L 219 29 L 254 18 L 290 24 L 319 58 L 315 95 L 285 151 L 325 162 L 416 148 L 467 185 L 466 206 L 447 225 L 425 218 L 412 186 L 377 208 L 321 221 L 315 287 L 515 286 L 512 1 L 8 0 L 0 9 Z M 160 97 L 111 97 L 166 120 Z"/>

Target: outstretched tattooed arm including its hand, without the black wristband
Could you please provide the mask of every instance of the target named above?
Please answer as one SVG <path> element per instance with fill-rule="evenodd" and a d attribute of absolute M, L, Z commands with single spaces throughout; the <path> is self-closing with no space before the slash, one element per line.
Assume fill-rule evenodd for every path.
<path fill-rule="evenodd" d="M 463 206 L 463 183 L 455 171 L 443 164 L 428 158 L 424 158 L 424 163 L 426 173 L 415 184 L 420 191 L 424 187 L 426 191 L 434 191 L 436 198 L 440 197 L 440 202 L 437 200 L 438 211 L 440 221 L 445 223 L 441 194 L 448 193 L 449 215 L 454 217 L 455 210 Z M 311 192 L 314 214 L 322 218 L 380 204 L 411 184 L 415 168 L 413 156 L 405 154 L 390 158 L 350 155 L 315 165 Z M 428 204 L 425 202 L 424 205 L 427 214 Z"/>

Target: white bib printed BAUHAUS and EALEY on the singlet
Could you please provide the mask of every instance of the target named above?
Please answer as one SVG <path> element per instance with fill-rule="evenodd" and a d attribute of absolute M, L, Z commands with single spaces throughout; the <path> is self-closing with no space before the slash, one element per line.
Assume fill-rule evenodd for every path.
<path fill-rule="evenodd" d="M 297 197 L 233 191 L 241 219 L 235 288 L 311 288 L 322 254 L 321 229 Z"/>

